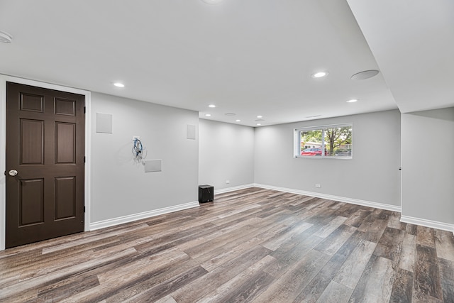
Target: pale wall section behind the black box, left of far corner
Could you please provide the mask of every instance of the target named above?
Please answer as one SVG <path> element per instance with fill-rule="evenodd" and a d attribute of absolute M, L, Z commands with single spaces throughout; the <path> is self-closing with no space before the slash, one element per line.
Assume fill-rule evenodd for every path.
<path fill-rule="evenodd" d="M 199 184 L 215 191 L 253 184 L 254 128 L 200 119 L 199 136 Z"/>

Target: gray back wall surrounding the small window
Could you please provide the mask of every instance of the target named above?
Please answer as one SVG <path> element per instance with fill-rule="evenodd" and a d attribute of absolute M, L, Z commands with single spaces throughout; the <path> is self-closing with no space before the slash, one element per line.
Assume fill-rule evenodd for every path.
<path fill-rule="evenodd" d="M 294 128 L 337 123 L 353 123 L 352 160 L 292 157 Z M 258 184 L 400 206 L 399 166 L 398 110 L 255 128 Z"/>

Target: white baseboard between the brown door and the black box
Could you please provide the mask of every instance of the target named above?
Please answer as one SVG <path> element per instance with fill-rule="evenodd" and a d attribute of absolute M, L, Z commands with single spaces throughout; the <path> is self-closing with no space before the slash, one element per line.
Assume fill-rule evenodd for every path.
<path fill-rule="evenodd" d="M 90 224 L 90 231 L 94 231 L 94 230 L 100 229 L 100 228 L 115 226 L 118 224 L 128 223 L 128 222 L 132 222 L 132 221 L 136 221 L 136 220 L 140 220 L 140 219 L 146 219 L 146 218 L 150 218 L 152 216 L 159 216 L 160 214 L 168 214 L 173 211 L 181 211 L 183 209 L 190 209 L 192 207 L 198 207 L 198 206 L 199 206 L 198 201 L 189 202 L 189 203 L 185 203 L 185 204 L 179 204 L 179 205 L 175 205 L 175 206 L 165 207 L 163 209 L 154 209 L 152 211 L 144 211 L 139 214 L 131 214 L 128 216 L 120 216 L 120 217 L 114 218 L 114 219 L 97 221 L 97 222 Z"/>

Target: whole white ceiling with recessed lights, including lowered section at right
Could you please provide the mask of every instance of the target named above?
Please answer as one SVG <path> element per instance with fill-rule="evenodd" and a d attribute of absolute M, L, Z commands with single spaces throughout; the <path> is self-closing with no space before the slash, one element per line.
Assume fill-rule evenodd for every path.
<path fill-rule="evenodd" d="M 453 11 L 452 0 L 0 0 L 13 36 L 0 74 L 247 126 L 428 109 L 431 92 L 440 108 L 454 106 Z M 426 75 L 436 67 L 443 77 Z M 312 78 L 319 70 L 328 77 Z"/>

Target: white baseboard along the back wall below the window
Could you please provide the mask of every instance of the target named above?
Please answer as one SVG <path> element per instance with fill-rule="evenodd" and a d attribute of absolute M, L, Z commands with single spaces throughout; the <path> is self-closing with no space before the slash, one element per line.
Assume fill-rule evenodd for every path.
<path fill-rule="evenodd" d="M 317 197 L 317 198 L 322 198 L 322 199 L 329 199 L 329 200 L 338 201 L 338 202 L 345 202 L 345 203 L 350 203 L 350 204 L 369 206 L 369 207 L 373 207 L 376 209 L 386 209 L 389 211 L 398 211 L 398 212 L 402 211 L 401 206 L 382 204 L 382 203 L 370 202 L 370 201 L 353 199 L 353 198 L 338 197 L 338 196 L 333 196 L 331 194 L 321 194 L 319 192 L 306 192 L 304 190 L 299 190 L 299 189 L 275 187 L 275 186 L 264 185 L 264 184 L 254 184 L 254 186 L 265 188 L 265 189 L 273 189 L 273 190 L 277 190 L 279 192 L 289 192 L 292 194 L 304 194 L 306 196 Z"/>

